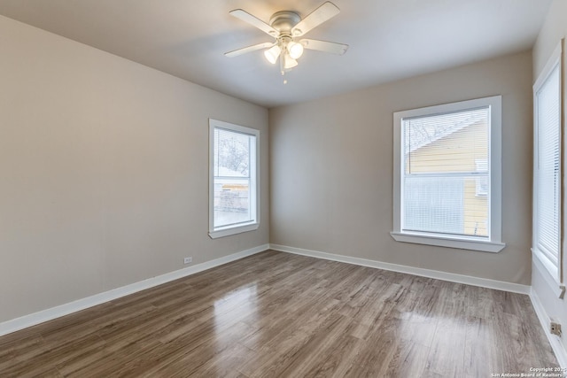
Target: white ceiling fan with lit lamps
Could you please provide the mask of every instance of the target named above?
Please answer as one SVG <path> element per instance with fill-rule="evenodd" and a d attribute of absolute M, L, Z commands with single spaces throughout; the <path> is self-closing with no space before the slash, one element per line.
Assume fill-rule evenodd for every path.
<path fill-rule="evenodd" d="M 296 12 L 276 12 L 269 19 L 268 25 L 242 9 L 235 9 L 234 11 L 230 11 L 229 14 L 237 19 L 242 19 L 253 27 L 258 27 L 262 32 L 276 38 L 276 41 L 254 44 L 242 49 L 229 51 L 224 55 L 227 57 L 237 57 L 247 52 L 267 49 L 264 51 L 264 56 L 268 59 L 268 62 L 274 65 L 279 58 L 280 71 L 282 74 L 298 65 L 297 59 L 301 57 L 304 49 L 343 55 L 346 49 L 348 49 L 347 44 L 306 38 L 299 39 L 299 37 L 306 35 L 314 27 L 318 27 L 323 22 L 338 15 L 338 12 L 340 12 L 340 10 L 337 5 L 326 2 L 315 9 L 314 12 L 307 15 L 305 19 L 301 19 Z"/>

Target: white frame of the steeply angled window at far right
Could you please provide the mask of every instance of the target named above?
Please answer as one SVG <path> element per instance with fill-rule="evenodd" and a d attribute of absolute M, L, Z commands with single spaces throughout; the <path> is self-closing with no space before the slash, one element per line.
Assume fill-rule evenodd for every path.
<path fill-rule="evenodd" d="M 542 89 L 543 85 L 548 82 L 551 77 L 551 74 L 555 72 L 555 69 L 559 70 L 558 75 L 558 88 L 559 88 L 559 149 L 560 149 L 560 158 L 559 158 L 559 213 L 558 219 L 556 221 L 559 222 L 559 235 L 558 235 L 558 258 L 557 261 L 554 263 L 552 262 L 548 256 L 538 248 L 538 222 L 540 221 L 538 217 L 539 206 L 537 203 L 537 196 L 538 196 L 538 157 L 539 157 L 539 107 L 538 107 L 538 96 L 540 93 L 540 89 Z M 563 40 L 559 42 L 559 44 L 555 47 L 554 52 L 552 53 L 551 57 L 548 59 L 546 66 L 543 68 L 543 71 L 540 73 L 540 76 L 533 84 L 533 235 L 532 235 L 532 260 L 534 263 L 539 267 L 540 271 L 544 274 L 544 278 L 548 282 L 549 286 L 554 288 L 556 291 L 557 296 L 563 297 L 565 287 L 563 285 L 563 266 L 562 261 L 564 258 L 563 254 L 563 122 L 564 122 L 564 114 L 563 114 Z M 543 268 L 543 269 L 542 269 Z M 545 273 L 548 274 L 545 274 Z"/>

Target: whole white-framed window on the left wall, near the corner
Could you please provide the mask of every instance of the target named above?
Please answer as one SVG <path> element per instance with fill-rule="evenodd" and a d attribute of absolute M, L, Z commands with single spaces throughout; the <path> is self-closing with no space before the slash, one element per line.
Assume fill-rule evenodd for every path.
<path fill-rule="evenodd" d="M 209 120 L 209 139 L 209 235 L 257 229 L 260 131 Z"/>

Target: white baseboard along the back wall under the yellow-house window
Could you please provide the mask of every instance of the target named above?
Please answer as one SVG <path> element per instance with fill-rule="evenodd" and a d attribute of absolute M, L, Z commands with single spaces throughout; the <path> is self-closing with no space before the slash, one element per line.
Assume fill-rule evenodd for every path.
<path fill-rule="evenodd" d="M 479 286 L 487 289 L 497 289 L 502 291 L 509 291 L 512 293 L 520 293 L 529 295 L 531 286 L 521 285 L 519 283 L 503 282 L 489 280 L 487 278 L 472 277 L 470 275 L 454 274 L 447 272 L 440 272 L 437 270 L 424 269 L 414 266 L 402 266 L 398 264 L 384 263 L 376 260 L 369 260 L 366 258 L 352 258 L 350 256 L 335 255 L 332 253 L 303 250 L 301 248 L 288 247 L 285 245 L 270 244 L 270 249 L 276 251 L 283 251 L 294 253 L 297 255 L 310 256 L 312 258 L 324 258 L 327 260 L 338 261 L 342 263 L 354 264 L 359 266 L 376 267 L 378 269 L 390 270 L 392 272 L 414 274 L 422 277 L 435 278 L 437 280 L 465 283 L 467 285 Z"/>

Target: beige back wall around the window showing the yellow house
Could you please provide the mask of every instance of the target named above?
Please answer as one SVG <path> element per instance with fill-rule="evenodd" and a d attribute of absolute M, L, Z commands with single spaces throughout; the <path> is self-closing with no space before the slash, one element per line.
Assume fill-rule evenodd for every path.
<path fill-rule="evenodd" d="M 500 253 L 395 242 L 392 113 L 502 95 Z M 532 55 L 270 110 L 270 242 L 530 284 Z"/>

